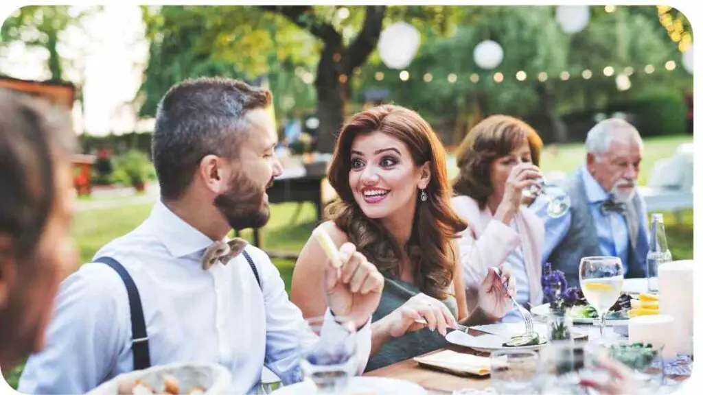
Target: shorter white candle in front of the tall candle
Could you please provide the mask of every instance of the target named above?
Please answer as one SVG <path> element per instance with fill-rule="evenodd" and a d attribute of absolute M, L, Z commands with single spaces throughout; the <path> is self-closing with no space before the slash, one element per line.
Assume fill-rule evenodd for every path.
<path fill-rule="evenodd" d="M 673 316 L 639 316 L 628 320 L 630 343 L 652 343 L 654 347 L 664 347 L 664 358 L 676 357 L 676 344 L 671 339 L 674 330 Z"/>

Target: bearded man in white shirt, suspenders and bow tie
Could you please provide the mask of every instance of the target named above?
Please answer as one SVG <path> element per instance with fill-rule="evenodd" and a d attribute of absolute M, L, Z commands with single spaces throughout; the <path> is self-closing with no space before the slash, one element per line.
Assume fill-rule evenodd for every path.
<path fill-rule="evenodd" d="M 153 137 L 161 199 L 63 281 L 46 348 L 27 361 L 19 391 L 81 394 L 120 373 L 184 361 L 224 365 L 237 394 L 257 386 L 264 365 L 285 384 L 302 380 L 300 339 L 315 335 L 269 257 L 226 239 L 269 220 L 266 188 L 281 166 L 268 105 L 269 91 L 231 79 L 187 80 L 166 93 Z M 360 373 L 383 277 L 354 245 L 340 259 L 356 273 L 344 283 L 328 263 L 325 318 L 332 335 L 342 330 L 333 315 L 353 320 Z"/>

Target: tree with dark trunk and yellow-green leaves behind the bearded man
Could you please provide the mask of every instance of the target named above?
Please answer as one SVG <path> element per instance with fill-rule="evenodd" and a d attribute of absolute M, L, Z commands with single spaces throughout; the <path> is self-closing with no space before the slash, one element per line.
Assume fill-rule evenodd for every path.
<path fill-rule="evenodd" d="M 339 12 L 342 8 L 346 10 L 345 18 Z M 354 77 L 367 60 L 374 58 L 372 53 L 382 25 L 404 19 L 443 32 L 453 23 L 453 10 L 459 8 L 169 6 L 144 9 L 154 60 L 150 60 L 153 71 L 146 72 L 141 89 L 141 100 L 145 103 L 142 115 L 152 114 L 155 102 L 165 92 L 165 84 L 159 81 L 174 83 L 179 80 L 176 77 L 194 76 L 198 74 L 196 65 L 218 63 L 229 67 L 223 75 L 247 78 L 264 73 L 281 75 L 290 72 L 287 68 L 290 66 L 312 67 L 314 75 L 308 70 L 304 73 L 314 79 L 316 110 L 321 122 L 317 148 L 330 152 L 335 132 L 348 109 Z M 174 70 L 175 65 L 181 68 Z"/>

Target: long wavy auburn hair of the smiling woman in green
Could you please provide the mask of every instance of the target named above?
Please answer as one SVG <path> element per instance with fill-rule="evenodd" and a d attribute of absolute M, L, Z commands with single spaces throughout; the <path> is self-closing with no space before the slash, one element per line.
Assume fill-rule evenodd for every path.
<path fill-rule="evenodd" d="M 413 216 L 413 230 L 407 245 L 401 246 L 378 219 L 368 218 L 354 200 L 349 187 L 351 150 L 359 134 L 380 131 L 404 143 L 415 166 L 430 163 L 427 201 L 420 200 Z M 328 216 L 347 233 L 349 241 L 379 271 L 399 276 L 401 252 L 413 268 L 415 285 L 438 299 L 447 296 L 453 280 L 454 251 L 451 239 L 467 224 L 451 209 L 451 185 L 446 171 L 446 154 L 430 124 L 417 112 L 396 105 L 380 105 L 354 115 L 344 124 L 328 171 L 330 184 L 339 198 L 328 207 Z"/>

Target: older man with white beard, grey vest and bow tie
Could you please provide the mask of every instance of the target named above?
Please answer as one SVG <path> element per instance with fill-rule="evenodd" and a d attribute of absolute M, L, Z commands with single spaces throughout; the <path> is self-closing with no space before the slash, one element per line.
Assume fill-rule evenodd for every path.
<path fill-rule="evenodd" d="M 542 261 L 565 273 L 569 285 L 579 284 L 582 257 L 620 257 L 626 278 L 645 277 L 647 209 L 637 192 L 644 145 L 628 122 L 605 119 L 586 138 L 586 166 L 548 187 L 550 195 L 566 194 L 570 207 L 562 216 L 547 214 L 540 195 L 530 206 L 543 219 Z"/>

